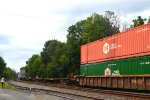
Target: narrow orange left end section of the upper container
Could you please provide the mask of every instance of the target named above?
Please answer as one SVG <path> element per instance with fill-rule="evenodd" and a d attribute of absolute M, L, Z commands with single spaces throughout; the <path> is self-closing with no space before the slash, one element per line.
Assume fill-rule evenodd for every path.
<path fill-rule="evenodd" d="M 87 63 L 87 44 L 81 46 L 81 64 Z"/>

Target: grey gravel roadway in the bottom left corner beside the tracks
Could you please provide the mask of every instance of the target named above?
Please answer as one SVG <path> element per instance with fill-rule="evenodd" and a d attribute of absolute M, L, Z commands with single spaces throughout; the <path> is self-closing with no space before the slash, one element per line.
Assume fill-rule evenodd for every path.
<path fill-rule="evenodd" d="M 0 100 L 62 100 L 47 94 L 35 94 L 33 92 L 0 89 Z"/>

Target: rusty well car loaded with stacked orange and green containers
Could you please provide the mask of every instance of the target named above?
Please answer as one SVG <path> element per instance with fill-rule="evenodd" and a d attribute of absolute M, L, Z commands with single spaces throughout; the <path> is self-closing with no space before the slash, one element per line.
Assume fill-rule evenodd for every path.
<path fill-rule="evenodd" d="M 82 86 L 150 90 L 150 24 L 81 46 Z"/>

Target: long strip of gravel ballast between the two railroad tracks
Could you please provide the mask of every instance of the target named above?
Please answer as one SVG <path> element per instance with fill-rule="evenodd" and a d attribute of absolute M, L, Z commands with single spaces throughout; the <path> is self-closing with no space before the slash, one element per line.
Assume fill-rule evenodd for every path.
<path fill-rule="evenodd" d="M 101 94 L 96 92 L 88 92 L 88 91 L 79 91 L 79 90 L 73 90 L 73 89 L 65 89 L 65 88 L 58 88 L 58 87 L 51 87 L 51 86 L 42 86 L 42 85 L 35 85 L 35 84 L 28 84 L 28 83 L 22 83 L 22 82 L 12 82 L 12 84 L 23 86 L 23 87 L 29 87 L 31 88 L 38 88 L 38 89 L 44 89 L 44 90 L 53 90 L 53 91 L 59 91 L 63 93 L 72 93 L 77 95 L 83 95 L 83 96 L 89 96 L 104 100 L 134 100 L 132 98 L 127 97 L 121 97 L 121 96 L 115 96 L 115 95 L 107 95 L 107 94 Z M 50 100 L 50 99 L 49 99 Z"/>

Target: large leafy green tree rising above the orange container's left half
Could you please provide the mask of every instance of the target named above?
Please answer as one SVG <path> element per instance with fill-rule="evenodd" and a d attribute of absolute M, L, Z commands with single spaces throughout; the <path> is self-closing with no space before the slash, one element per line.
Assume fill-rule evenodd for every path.
<path fill-rule="evenodd" d="M 82 43 L 88 43 L 119 32 L 119 18 L 114 12 L 106 11 L 105 16 L 93 13 L 83 26 Z"/>

